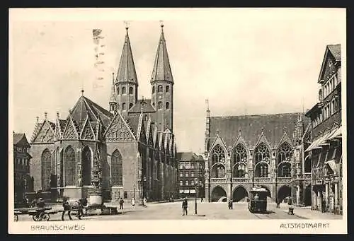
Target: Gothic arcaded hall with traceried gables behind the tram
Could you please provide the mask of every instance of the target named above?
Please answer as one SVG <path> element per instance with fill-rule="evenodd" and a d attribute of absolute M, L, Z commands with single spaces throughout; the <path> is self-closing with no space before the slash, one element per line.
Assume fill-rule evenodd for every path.
<path fill-rule="evenodd" d="M 274 201 L 291 198 L 295 148 L 307 127 L 304 113 L 212 117 L 205 129 L 207 201 L 245 201 L 265 187 Z"/>

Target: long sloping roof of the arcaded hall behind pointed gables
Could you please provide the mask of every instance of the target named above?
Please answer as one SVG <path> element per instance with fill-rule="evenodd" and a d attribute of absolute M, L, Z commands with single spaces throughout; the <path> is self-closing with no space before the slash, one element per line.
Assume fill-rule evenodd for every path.
<path fill-rule="evenodd" d="M 297 124 L 297 118 L 302 113 L 282 113 L 282 114 L 254 114 L 232 117 L 210 117 L 210 141 L 214 141 L 219 136 L 224 140 L 227 148 L 232 148 L 234 142 L 241 133 L 249 148 L 254 148 L 263 135 L 269 141 L 270 146 L 278 146 L 284 132 L 292 136 Z M 307 122 L 306 118 L 302 118 Z M 305 125 L 306 126 L 306 125 Z"/>

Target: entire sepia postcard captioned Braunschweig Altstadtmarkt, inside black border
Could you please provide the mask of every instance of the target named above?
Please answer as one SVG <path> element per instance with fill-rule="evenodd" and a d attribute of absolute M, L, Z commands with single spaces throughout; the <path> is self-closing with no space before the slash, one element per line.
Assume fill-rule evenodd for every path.
<path fill-rule="evenodd" d="M 346 233 L 345 54 L 345 8 L 10 9 L 9 233 Z"/>

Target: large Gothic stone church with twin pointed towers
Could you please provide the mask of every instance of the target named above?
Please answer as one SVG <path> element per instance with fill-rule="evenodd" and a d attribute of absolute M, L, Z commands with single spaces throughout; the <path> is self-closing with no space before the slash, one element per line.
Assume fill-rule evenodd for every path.
<path fill-rule="evenodd" d="M 34 191 L 52 199 L 86 197 L 99 178 L 105 201 L 159 200 L 176 193 L 173 76 L 163 25 L 150 79 L 152 98 L 138 100 L 128 28 L 117 74 L 107 81 L 112 83 L 109 110 L 82 91 L 67 117 L 50 120 L 45 114 L 37 121 L 30 141 Z"/>

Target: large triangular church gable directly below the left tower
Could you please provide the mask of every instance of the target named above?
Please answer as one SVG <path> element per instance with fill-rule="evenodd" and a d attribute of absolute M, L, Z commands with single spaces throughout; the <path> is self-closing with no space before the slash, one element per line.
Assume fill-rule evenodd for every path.
<path fill-rule="evenodd" d="M 106 141 L 136 141 L 132 130 L 118 111 L 105 131 Z"/>

